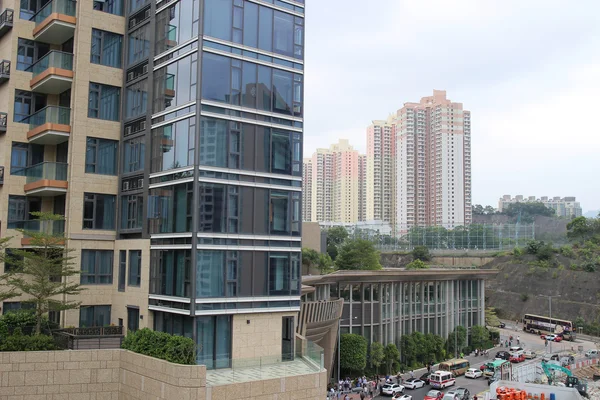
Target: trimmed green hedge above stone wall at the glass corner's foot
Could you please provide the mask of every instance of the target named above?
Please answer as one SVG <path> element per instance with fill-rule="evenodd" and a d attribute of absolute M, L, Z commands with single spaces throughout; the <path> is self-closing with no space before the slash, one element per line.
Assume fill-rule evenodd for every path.
<path fill-rule="evenodd" d="M 148 328 L 129 332 L 121 347 L 175 364 L 196 364 L 196 345 L 192 339 Z"/>

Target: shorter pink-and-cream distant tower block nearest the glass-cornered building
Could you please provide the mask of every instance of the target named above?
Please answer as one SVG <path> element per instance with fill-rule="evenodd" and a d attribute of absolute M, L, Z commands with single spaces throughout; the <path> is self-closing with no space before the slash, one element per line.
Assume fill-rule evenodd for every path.
<path fill-rule="evenodd" d="M 311 214 L 305 214 L 304 220 L 358 221 L 361 165 L 364 165 L 364 156 L 359 155 L 346 139 L 327 149 L 317 149 L 311 159 L 305 159 L 303 198 L 305 202 L 310 199 L 311 204 L 303 206 L 303 209 L 310 210 Z M 307 189 L 308 186 L 310 189 Z"/>

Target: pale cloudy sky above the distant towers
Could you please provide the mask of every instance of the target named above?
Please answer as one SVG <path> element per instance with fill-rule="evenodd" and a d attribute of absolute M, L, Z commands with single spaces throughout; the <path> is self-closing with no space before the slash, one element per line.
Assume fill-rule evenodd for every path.
<path fill-rule="evenodd" d="M 600 208 L 600 1 L 307 0 L 304 155 L 433 89 L 471 111 L 473 203 Z"/>

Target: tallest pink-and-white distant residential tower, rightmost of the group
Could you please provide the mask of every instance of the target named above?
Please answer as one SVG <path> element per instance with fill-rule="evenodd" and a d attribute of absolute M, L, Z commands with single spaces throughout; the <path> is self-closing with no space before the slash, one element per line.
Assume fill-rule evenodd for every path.
<path fill-rule="evenodd" d="M 471 114 L 434 90 L 396 117 L 397 229 L 471 223 Z"/>

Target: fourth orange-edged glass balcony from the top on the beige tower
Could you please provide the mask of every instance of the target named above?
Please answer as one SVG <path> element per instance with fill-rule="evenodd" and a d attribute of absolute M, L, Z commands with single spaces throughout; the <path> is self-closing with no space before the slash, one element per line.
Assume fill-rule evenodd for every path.
<path fill-rule="evenodd" d="M 25 194 L 58 196 L 67 192 L 67 164 L 45 161 L 25 169 Z"/>

